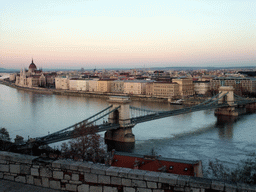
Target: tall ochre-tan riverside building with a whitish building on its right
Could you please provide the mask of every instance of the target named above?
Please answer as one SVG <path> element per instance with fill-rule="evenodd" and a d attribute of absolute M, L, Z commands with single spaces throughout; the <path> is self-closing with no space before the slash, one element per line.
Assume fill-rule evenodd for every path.
<path fill-rule="evenodd" d="M 194 84 L 192 78 L 172 79 L 172 82 L 179 84 L 180 96 L 185 97 L 194 95 Z"/>

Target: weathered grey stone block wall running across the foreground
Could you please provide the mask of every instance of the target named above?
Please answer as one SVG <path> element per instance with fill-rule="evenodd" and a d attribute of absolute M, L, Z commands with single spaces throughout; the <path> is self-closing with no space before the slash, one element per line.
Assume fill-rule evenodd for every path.
<path fill-rule="evenodd" d="M 0 179 L 65 191 L 255 192 L 256 186 L 0 151 Z"/>

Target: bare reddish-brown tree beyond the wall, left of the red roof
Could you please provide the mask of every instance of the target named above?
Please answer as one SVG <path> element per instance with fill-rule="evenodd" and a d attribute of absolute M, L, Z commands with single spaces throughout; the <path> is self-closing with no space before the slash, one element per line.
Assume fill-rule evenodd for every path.
<path fill-rule="evenodd" d="M 106 151 L 103 139 L 96 133 L 96 127 L 83 127 L 74 131 L 74 139 L 61 145 L 64 158 L 102 162 Z"/>

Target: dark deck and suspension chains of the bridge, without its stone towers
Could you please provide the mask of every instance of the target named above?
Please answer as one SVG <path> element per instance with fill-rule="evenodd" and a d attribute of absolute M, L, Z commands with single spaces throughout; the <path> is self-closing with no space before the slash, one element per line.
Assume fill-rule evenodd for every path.
<path fill-rule="evenodd" d="M 186 113 L 191 113 L 191 112 L 196 112 L 196 111 L 201 111 L 201 110 L 208 110 L 208 109 L 216 109 L 216 108 L 222 108 L 222 107 L 230 107 L 228 103 L 218 103 L 220 99 L 225 97 L 227 94 L 222 95 L 219 97 L 221 93 L 218 95 L 212 97 L 211 99 L 196 105 L 192 107 L 186 107 L 183 109 L 176 109 L 176 110 L 171 110 L 171 111 L 152 111 L 152 110 L 146 110 L 146 109 L 139 109 L 136 107 L 131 107 L 132 110 L 139 110 L 144 113 L 144 115 L 138 116 L 138 117 L 132 117 L 129 120 L 129 124 L 127 126 L 134 126 L 138 123 L 143 123 L 147 121 L 152 121 L 156 119 L 161 119 L 165 117 L 170 117 L 170 116 L 176 116 L 176 115 L 181 115 L 181 114 L 186 114 Z M 245 99 L 243 97 L 239 97 L 234 95 L 236 98 L 236 103 L 233 106 L 236 105 L 246 105 L 250 103 L 255 103 L 255 99 Z M 217 98 L 219 97 L 219 98 Z M 98 120 L 102 119 L 103 117 L 109 115 L 110 113 L 113 113 L 116 111 L 119 107 L 116 107 L 115 109 L 112 109 L 111 111 L 108 111 L 112 106 L 109 106 L 99 113 L 79 122 L 76 123 L 72 126 L 69 126 L 65 129 L 62 129 L 60 131 L 57 131 L 55 133 L 52 133 L 50 135 L 46 135 L 43 137 L 38 137 L 35 139 L 35 143 L 37 145 L 46 145 L 46 144 L 51 144 L 59 141 L 64 141 L 68 139 L 72 139 L 75 137 L 79 137 L 81 135 L 77 134 L 77 130 L 87 130 L 91 129 L 93 127 L 94 131 L 93 132 L 102 132 L 102 131 L 107 131 L 111 129 L 118 129 L 120 128 L 119 124 L 110 124 L 110 123 L 101 123 L 99 125 L 93 125 L 95 124 Z M 123 125 L 125 126 L 125 125 Z M 89 133 L 89 132 L 88 132 Z M 31 142 L 27 142 L 25 145 L 30 144 Z M 24 146 L 24 145 L 23 145 Z"/>

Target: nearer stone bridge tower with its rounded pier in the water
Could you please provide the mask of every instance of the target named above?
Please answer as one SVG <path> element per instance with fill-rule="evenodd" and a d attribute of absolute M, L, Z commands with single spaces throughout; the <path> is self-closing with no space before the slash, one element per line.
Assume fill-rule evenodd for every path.
<path fill-rule="evenodd" d="M 108 102 L 112 105 L 112 109 L 119 107 L 111 113 L 108 118 L 108 123 L 119 124 L 118 129 L 108 130 L 105 133 L 105 142 L 108 144 L 109 150 L 115 148 L 117 151 L 130 151 L 134 148 L 135 136 L 132 133 L 130 120 L 130 98 L 112 96 Z"/>

